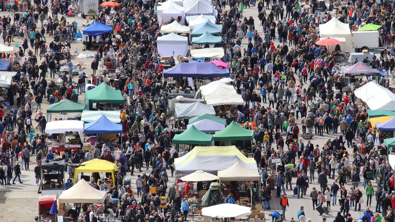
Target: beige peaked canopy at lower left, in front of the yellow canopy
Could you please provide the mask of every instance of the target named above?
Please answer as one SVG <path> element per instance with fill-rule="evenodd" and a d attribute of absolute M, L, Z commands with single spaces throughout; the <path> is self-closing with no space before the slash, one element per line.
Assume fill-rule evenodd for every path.
<path fill-rule="evenodd" d="M 58 204 L 60 203 L 103 203 L 107 197 L 107 192 L 96 190 L 84 179 L 78 181 L 68 190 L 60 194 Z"/>

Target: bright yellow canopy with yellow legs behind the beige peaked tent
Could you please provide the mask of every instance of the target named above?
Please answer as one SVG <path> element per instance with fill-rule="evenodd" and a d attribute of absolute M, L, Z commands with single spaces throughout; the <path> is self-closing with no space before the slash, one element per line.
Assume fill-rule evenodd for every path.
<path fill-rule="evenodd" d="M 107 160 L 93 159 L 83 162 L 80 167 L 75 168 L 74 184 L 77 182 L 78 173 L 112 173 L 113 184 L 115 185 L 114 174 L 117 171 L 117 165 Z M 97 181 L 95 181 L 97 182 Z"/>

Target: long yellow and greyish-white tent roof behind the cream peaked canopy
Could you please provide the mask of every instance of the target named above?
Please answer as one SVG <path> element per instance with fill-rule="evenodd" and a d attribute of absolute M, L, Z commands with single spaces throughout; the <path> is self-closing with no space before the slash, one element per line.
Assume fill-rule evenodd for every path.
<path fill-rule="evenodd" d="M 253 158 L 244 156 L 235 146 L 195 147 L 184 156 L 175 159 L 175 170 L 179 174 L 189 174 L 197 169 L 216 174 L 241 161 L 248 169 L 257 169 Z"/>

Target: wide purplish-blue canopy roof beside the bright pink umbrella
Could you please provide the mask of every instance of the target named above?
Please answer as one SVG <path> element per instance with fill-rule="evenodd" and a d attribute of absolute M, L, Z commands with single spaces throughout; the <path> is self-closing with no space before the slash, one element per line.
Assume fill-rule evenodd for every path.
<path fill-rule="evenodd" d="M 164 77 L 213 78 L 229 77 L 229 69 L 218 68 L 212 62 L 180 62 L 171 69 L 164 70 Z"/>

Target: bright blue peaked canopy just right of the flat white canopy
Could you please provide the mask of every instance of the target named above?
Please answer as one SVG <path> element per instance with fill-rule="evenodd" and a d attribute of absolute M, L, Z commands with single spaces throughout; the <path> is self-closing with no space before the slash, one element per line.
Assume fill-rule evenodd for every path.
<path fill-rule="evenodd" d="M 105 115 L 98 120 L 84 125 L 84 133 L 86 134 L 113 134 L 122 132 L 122 125 L 111 122 Z"/>

